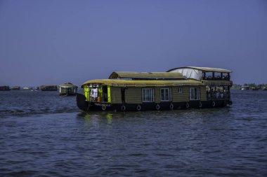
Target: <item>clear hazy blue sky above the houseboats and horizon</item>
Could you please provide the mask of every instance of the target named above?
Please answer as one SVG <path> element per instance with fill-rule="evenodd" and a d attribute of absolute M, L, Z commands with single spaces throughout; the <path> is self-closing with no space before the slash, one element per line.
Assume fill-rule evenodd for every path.
<path fill-rule="evenodd" d="M 0 85 L 80 85 L 178 66 L 267 83 L 266 31 L 265 0 L 0 0 Z"/>

